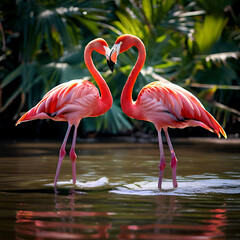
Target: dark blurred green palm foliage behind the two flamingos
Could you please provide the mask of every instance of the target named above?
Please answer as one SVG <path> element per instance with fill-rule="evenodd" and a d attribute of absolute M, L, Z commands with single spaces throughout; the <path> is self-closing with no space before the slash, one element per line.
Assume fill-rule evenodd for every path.
<path fill-rule="evenodd" d="M 159 77 L 197 96 L 229 137 L 240 132 L 240 8 L 238 0 L 1 0 L 0 138 L 59 139 L 67 124 L 17 119 L 56 85 L 77 78 L 95 84 L 83 59 L 94 38 L 111 47 L 130 33 L 142 39 L 147 59 L 133 97 Z M 153 125 L 122 113 L 123 85 L 137 58 L 136 49 L 119 56 L 114 73 L 93 54 L 114 103 L 105 115 L 81 122 L 81 138 L 156 137 Z M 170 131 L 171 136 L 211 136 L 201 128 Z"/>

